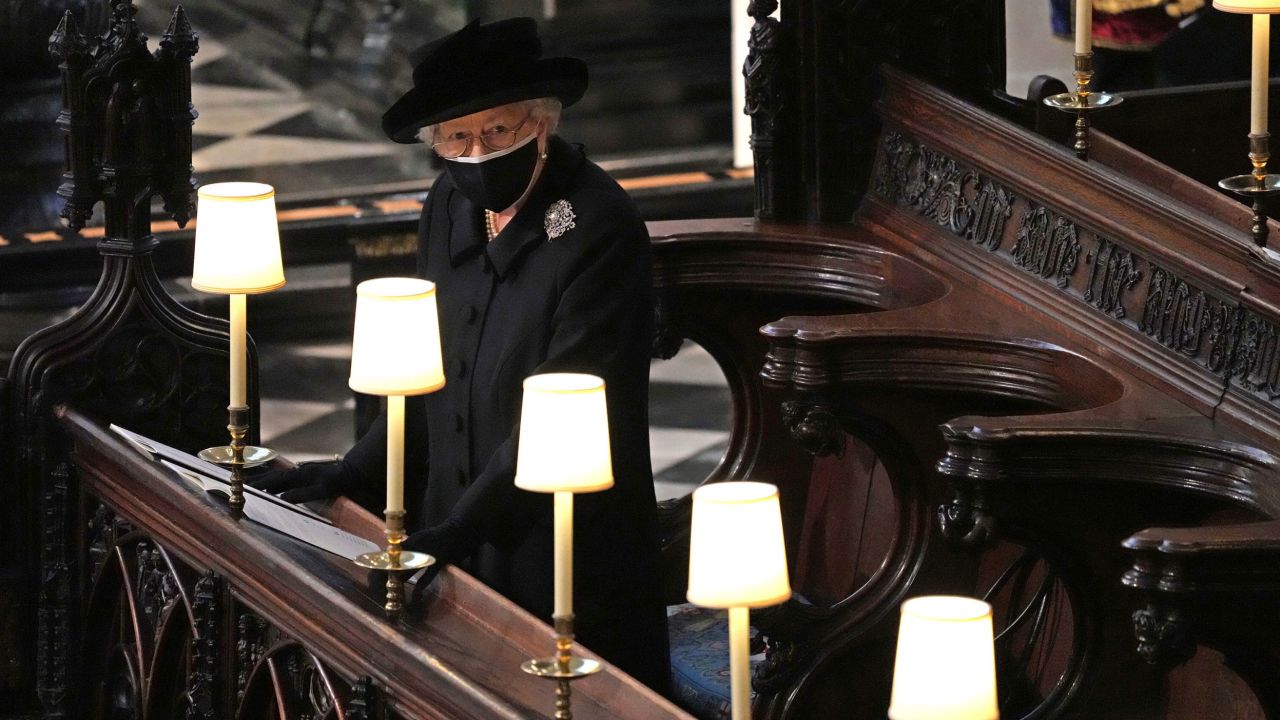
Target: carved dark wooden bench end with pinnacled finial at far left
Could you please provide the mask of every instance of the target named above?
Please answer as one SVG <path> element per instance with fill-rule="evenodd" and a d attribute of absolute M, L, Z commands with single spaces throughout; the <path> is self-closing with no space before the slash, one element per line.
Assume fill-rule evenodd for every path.
<path fill-rule="evenodd" d="M 101 274 L 76 314 L 18 347 L 6 383 L 4 546 L 12 555 L 5 565 L 28 587 L 41 579 L 38 623 L 37 603 L 22 601 L 27 637 L 13 644 L 38 657 L 36 694 L 49 715 L 78 712 L 73 679 L 81 638 L 70 603 L 84 571 L 72 544 L 76 475 L 64 470 L 68 445 L 51 424 L 50 409 L 70 402 L 186 447 L 225 437 L 225 323 L 165 292 L 150 234 L 154 196 L 179 224 L 193 209 L 191 58 L 197 40 L 179 8 L 151 53 L 134 12 L 128 0 L 115 3 L 101 37 L 83 36 L 67 13 L 49 38 L 63 73 L 63 217 L 72 228 L 82 227 L 101 202 Z M 256 406 L 255 375 L 250 397 Z M 38 628 L 38 643 L 29 628 Z"/>

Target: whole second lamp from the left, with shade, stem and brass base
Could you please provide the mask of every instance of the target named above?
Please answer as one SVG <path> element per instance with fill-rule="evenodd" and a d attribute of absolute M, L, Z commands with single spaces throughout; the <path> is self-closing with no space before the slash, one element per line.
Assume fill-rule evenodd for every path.
<path fill-rule="evenodd" d="M 351 379 L 356 392 L 387 397 L 387 550 L 356 559 L 361 568 L 387 571 L 384 610 L 404 609 L 402 573 L 435 562 L 404 542 L 404 397 L 444 387 L 435 284 L 417 278 L 376 278 L 356 286 L 356 328 Z"/>

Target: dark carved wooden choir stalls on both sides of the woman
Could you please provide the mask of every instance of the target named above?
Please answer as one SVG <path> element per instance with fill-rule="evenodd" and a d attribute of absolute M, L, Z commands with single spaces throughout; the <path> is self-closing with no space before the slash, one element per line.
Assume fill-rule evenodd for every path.
<path fill-rule="evenodd" d="M 753 716 L 883 719 L 900 603 L 964 594 L 995 606 L 1001 717 L 1280 717 L 1280 263 L 1249 209 L 1103 132 L 1078 159 L 1069 119 L 997 91 L 1000 1 L 773 5 L 745 69 L 758 217 L 650 224 L 654 355 L 698 342 L 732 395 L 707 482 L 781 489 L 795 597 L 751 616 Z M 388 621 L 364 571 L 105 429 L 221 442 L 227 389 L 227 324 L 148 258 L 151 196 L 189 209 L 195 38 L 178 10 L 152 55 L 115 22 L 55 35 L 101 279 L 4 386 L 15 712 L 550 716 L 518 670 L 543 620 L 449 569 Z M 148 106 L 146 137 L 111 115 Z M 84 128 L 137 154 L 76 155 Z M 689 509 L 660 507 L 673 605 Z M 609 666 L 573 711 L 691 716 Z"/>

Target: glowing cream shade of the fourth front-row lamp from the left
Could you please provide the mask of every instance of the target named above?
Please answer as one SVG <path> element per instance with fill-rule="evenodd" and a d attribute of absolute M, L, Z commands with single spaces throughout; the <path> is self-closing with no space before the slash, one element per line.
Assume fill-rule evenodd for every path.
<path fill-rule="evenodd" d="M 724 482 L 694 491 L 689 601 L 765 607 L 791 597 L 778 488 Z"/>

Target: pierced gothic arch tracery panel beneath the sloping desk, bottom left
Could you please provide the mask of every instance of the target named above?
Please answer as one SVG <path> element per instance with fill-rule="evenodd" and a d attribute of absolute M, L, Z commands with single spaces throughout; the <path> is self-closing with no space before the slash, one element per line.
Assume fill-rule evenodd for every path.
<path fill-rule="evenodd" d="M 86 550 L 100 560 L 83 609 L 76 606 L 83 611 L 81 716 L 375 717 L 378 692 L 367 678 L 342 679 L 237 602 L 220 575 L 84 500 L 92 518 Z"/>

